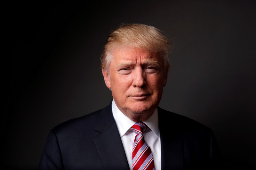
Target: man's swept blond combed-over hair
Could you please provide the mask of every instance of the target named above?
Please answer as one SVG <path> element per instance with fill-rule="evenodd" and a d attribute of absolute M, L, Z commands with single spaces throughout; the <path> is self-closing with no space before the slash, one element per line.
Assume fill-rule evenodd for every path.
<path fill-rule="evenodd" d="M 163 58 L 164 73 L 167 73 L 170 68 L 168 57 L 170 45 L 171 42 L 154 26 L 121 24 L 109 34 L 100 57 L 100 66 L 102 69 L 109 71 L 108 67 L 112 59 L 111 49 L 118 46 L 127 46 L 160 53 Z"/>

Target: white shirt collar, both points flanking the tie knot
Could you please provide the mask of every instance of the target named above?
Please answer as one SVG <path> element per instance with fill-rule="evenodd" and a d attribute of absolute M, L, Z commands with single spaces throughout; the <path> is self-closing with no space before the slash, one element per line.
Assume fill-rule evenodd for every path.
<path fill-rule="evenodd" d="M 112 113 L 114 116 L 114 119 L 116 121 L 116 125 L 120 134 L 120 137 L 122 137 L 127 130 L 129 130 L 132 125 L 134 125 L 134 121 L 130 120 L 126 115 L 124 115 L 119 108 L 116 106 L 116 103 L 113 99 L 112 101 Z M 147 121 L 143 121 L 159 138 L 159 127 L 158 127 L 158 112 L 157 108 L 154 111 L 154 113 L 148 118 Z"/>

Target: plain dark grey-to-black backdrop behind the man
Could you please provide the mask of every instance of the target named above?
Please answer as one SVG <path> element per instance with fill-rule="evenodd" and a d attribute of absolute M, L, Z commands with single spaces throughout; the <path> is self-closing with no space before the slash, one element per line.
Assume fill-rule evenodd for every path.
<path fill-rule="evenodd" d="M 155 26 L 174 43 L 160 107 L 210 127 L 227 168 L 256 166 L 255 1 L 41 1 L 2 8 L 5 168 L 36 169 L 50 129 L 110 103 L 100 55 L 110 30 L 123 22 Z"/>

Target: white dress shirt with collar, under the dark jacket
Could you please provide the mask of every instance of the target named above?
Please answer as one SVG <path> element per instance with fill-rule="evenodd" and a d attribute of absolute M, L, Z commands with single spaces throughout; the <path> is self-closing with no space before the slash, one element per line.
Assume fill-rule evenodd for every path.
<path fill-rule="evenodd" d="M 112 112 L 116 125 L 123 142 L 124 151 L 128 160 L 130 169 L 132 170 L 132 146 L 134 138 L 136 136 L 130 128 L 136 122 L 130 120 L 125 116 L 116 106 L 113 99 L 112 101 Z M 148 143 L 154 159 L 155 169 L 161 169 L 161 143 L 160 143 L 160 131 L 158 127 L 158 112 L 157 109 L 153 115 L 147 120 L 143 121 L 149 128 L 143 133 L 145 141 Z"/>

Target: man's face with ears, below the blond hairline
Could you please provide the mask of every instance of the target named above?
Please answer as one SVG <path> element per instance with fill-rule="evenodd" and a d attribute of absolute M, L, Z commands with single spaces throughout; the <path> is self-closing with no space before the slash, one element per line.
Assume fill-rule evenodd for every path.
<path fill-rule="evenodd" d="M 132 121 L 146 121 L 167 82 L 162 60 L 158 53 L 134 47 L 116 47 L 110 53 L 109 72 L 102 69 L 102 73 L 116 106 Z"/>

